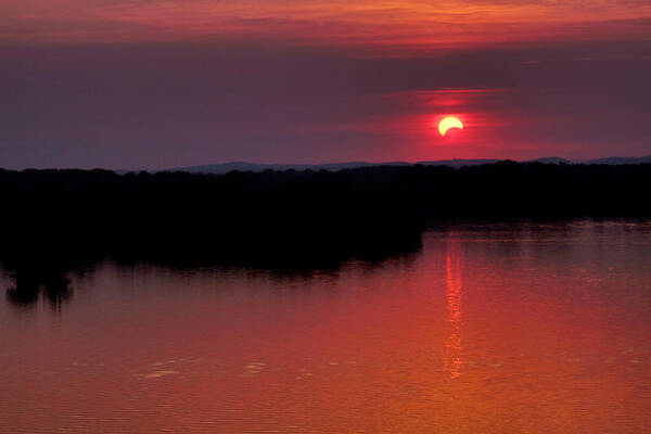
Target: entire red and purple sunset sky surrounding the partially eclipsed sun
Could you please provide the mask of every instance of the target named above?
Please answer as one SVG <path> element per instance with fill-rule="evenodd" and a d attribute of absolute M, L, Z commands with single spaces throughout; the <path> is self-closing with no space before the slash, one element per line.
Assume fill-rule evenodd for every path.
<path fill-rule="evenodd" d="M 648 155 L 649 77 L 648 0 L 0 0 L 0 167 Z"/>

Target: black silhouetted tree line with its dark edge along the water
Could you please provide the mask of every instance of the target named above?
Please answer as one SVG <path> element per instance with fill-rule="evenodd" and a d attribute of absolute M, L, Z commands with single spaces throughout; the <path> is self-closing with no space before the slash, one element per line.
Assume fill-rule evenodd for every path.
<path fill-rule="evenodd" d="M 0 169 L 8 295 L 56 298 L 103 257 L 336 268 L 420 246 L 427 222 L 651 216 L 651 165 L 500 162 L 226 175 Z M 59 295 L 58 295 L 59 294 Z"/>

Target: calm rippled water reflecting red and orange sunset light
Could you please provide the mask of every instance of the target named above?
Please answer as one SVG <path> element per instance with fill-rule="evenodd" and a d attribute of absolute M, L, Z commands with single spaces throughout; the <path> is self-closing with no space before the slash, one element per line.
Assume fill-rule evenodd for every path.
<path fill-rule="evenodd" d="M 298 277 L 71 278 L 0 299 L 0 432 L 651 431 L 649 222 L 458 226 Z"/>

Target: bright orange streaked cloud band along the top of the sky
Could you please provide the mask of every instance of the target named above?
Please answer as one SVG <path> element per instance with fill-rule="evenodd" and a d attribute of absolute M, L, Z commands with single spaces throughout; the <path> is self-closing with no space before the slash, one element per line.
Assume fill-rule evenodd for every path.
<path fill-rule="evenodd" d="M 4 0 L 8 42 L 280 39 L 429 49 L 522 41 L 650 39 L 641 0 Z"/>

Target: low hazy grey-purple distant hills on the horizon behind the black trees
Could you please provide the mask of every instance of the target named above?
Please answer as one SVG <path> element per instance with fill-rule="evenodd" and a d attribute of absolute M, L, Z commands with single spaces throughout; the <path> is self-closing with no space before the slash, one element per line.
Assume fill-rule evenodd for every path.
<path fill-rule="evenodd" d="M 213 174 L 224 175 L 229 171 L 265 171 L 265 170 L 329 170 L 339 171 L 344 169 L 355 169 L 360 167 L 376 167 L 376 166 L 410 166 L 413 164 L 420 164 L 423 166 L 450 166 L 455 168 L 467 167 L 467 166 L 480 166 L 482 164 L 494 164 L 499 162 L 497 158 L 454 158 L 454 159 L 436 159 L 436 161 L 423 161 L 417 163 L 409 162 L 388 162 L 388 163 L 369 163 L 369 162 L 345 162 L 345 163 L 327 163 L 327 164 L 256 164 L 246 162 L 232 162 L 222 164 L 208 164 L 203 166 L 188 166 L 188 167 L 175 167 L 161 171 L 186 171 L 189 174 Z M 572 162 L 567 158 L 560 156 L 547 156 L 542 158 L 528 159 L 524 163 L 545 163 L 545 164 L 608 164 L 608 165 L 620 165 L 620 164 L 643 164 L 651 163 L 651 155 L 640 157 L 608 157 L 598 159 L 588 159 L 584 162 Z"/>

